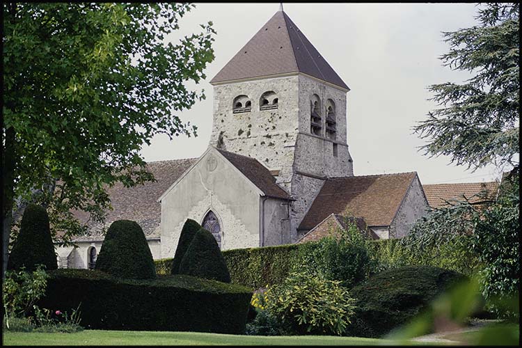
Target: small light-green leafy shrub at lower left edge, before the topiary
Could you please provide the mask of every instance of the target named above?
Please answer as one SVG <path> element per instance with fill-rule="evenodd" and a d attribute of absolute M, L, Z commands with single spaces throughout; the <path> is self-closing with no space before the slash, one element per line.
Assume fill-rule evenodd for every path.
<path fill-rule="evenodd" d="M 2 283 L 2 303 L 6 316 L 28 317 L 33 305 L 45 294 L 47 278 L 49 276 L 42 267 L 32 272 L 23 268 L 7 271 Z"/>

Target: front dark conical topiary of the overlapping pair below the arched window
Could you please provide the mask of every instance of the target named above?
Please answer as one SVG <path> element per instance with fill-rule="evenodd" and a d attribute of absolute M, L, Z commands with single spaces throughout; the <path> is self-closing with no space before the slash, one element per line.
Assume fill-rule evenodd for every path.
<path fill-rule="evenodd" d="M 225 258 L 212 233 L 198 230 L 181 260 L 180 274 L 230 283 Z"/>

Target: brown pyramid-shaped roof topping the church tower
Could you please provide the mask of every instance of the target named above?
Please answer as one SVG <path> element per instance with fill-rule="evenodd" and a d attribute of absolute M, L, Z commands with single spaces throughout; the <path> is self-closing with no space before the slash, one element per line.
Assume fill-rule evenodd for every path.
<path fill-rule="evenodd" d="M 302 72 L 349 90 L 292 19 L 279 10 L 216 74 L 210 84 L 291 72 Z"/>

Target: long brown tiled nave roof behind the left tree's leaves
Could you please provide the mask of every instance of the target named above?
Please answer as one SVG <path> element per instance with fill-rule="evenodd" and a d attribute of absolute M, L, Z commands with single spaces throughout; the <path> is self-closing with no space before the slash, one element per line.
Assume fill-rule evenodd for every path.
<path fill-rule="evenodd" d="M 121 183 L 107 189 L 113 210 L 107 212 L 105 227 L 109 228 L 116 220 L 126 219 L 139 223 L 145 236 L 159 237 L 159 223 L 161 221 L 161 203 L 157 198 L 173 184 L 196 159 L 174 159 L 171 161 L 149 162 L 148 169 L 154 175 L 155 182 L 147 182 L 135 187 L 123 187 Z M 74 212 L 81 222 L 88 220 L 88 213 Z M 101 223 L 90 221 L 88 235 L 76 237 L 76 241 L 102 240 L 100 232 L 104 226 Z"/>

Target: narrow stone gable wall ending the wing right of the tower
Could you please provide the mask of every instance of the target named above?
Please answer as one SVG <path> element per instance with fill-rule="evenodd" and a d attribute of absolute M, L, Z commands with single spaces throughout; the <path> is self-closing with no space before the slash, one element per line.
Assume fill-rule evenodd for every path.
<path fill-rule="evenodd" d="M 402 205 L 397 211 L 395 219 L 390 226 L 390 238 L 404 237 L 413 223 L 425 215 L 428 202 L 422 191 L 422 185 L 416 176 L 409 187 Z"/>

